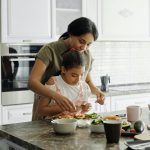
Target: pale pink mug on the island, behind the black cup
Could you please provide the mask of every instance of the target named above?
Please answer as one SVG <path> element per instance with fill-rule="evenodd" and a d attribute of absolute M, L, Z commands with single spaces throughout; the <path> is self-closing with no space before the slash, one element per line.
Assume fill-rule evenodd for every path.
<path fill-rule="evenodd" d="M 136 122 L 140 120 L 142 114 L 142 108 L 140 106 L 128 106 L 127 107 L 127 120 L 129 122 Z"/>

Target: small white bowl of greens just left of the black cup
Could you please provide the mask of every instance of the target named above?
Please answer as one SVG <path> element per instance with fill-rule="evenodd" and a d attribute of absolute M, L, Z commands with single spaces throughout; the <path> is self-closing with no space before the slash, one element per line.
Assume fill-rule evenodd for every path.
<path fill-rule="evenodd" d="M 95 132 L 95 133 L 104 133 L 104 124 L 91 124 L 90 125 L 90 130 L 91 132 Z"/>

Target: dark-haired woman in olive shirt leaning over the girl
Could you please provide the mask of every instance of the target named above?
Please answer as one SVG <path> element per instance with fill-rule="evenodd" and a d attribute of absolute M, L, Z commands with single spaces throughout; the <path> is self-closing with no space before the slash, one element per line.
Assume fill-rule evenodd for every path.
<path fill-rule="evenodd" d="M 68 25 L 68 30 L 58 41 L 46 44 L 37 54 L 35 64 L 29 77 L 29 88 L 35 93 L 54 99 L 62 110 L 75 111 L 76 107 L 67 98 L 46 88 L 43 84 L 50 76 L 58 75 L 63 54 L 70 49 L 79 50 L 85 60 L 84 79 L 89 85 L 92 94 L 97 96 L 97 102 L 104 103 L 104 94 L 93 84 L 90 77 L 92 57 L 90 45 L 97 40 L 98 31 L 95 24 L 88 18 L 81 17 Z M 33 113 L 36 111 L 35 100 Z"/>

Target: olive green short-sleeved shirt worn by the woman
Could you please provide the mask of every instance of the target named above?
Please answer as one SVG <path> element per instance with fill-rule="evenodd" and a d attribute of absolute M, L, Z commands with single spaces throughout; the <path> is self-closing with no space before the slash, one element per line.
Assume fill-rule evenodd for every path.
<path fill-rule="evenodd" d="M 46 71 L 42 77 L 42 83 L 45 82 L 51 76 L 57 76 L 60 73 L 60 67 L 62 63 L 62 57 L 68 49 L 65 46 L 64 40 L 61 38 L 58 41 L 54 41 L 44 45 L 37 54 L 37 58 L 41 59 L 46 67 Z M 88 72 L 91 70 L 92 56 L 89 50 L 83 52 L 83 59 L 85 62 L 85 72 L 83 75 L 83 80 L 86 79 Z"/>

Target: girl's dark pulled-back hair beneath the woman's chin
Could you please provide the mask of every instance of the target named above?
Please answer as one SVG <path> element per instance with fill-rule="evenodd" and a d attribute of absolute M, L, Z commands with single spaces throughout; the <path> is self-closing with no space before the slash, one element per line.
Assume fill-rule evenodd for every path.
<path fill-rule="evenodd" d="M 84 66 L 82 54 L 77 50 L 70 50 L 64 53 L 62 66 L 65 69 L 76 68 L 78 66 Z"/>

